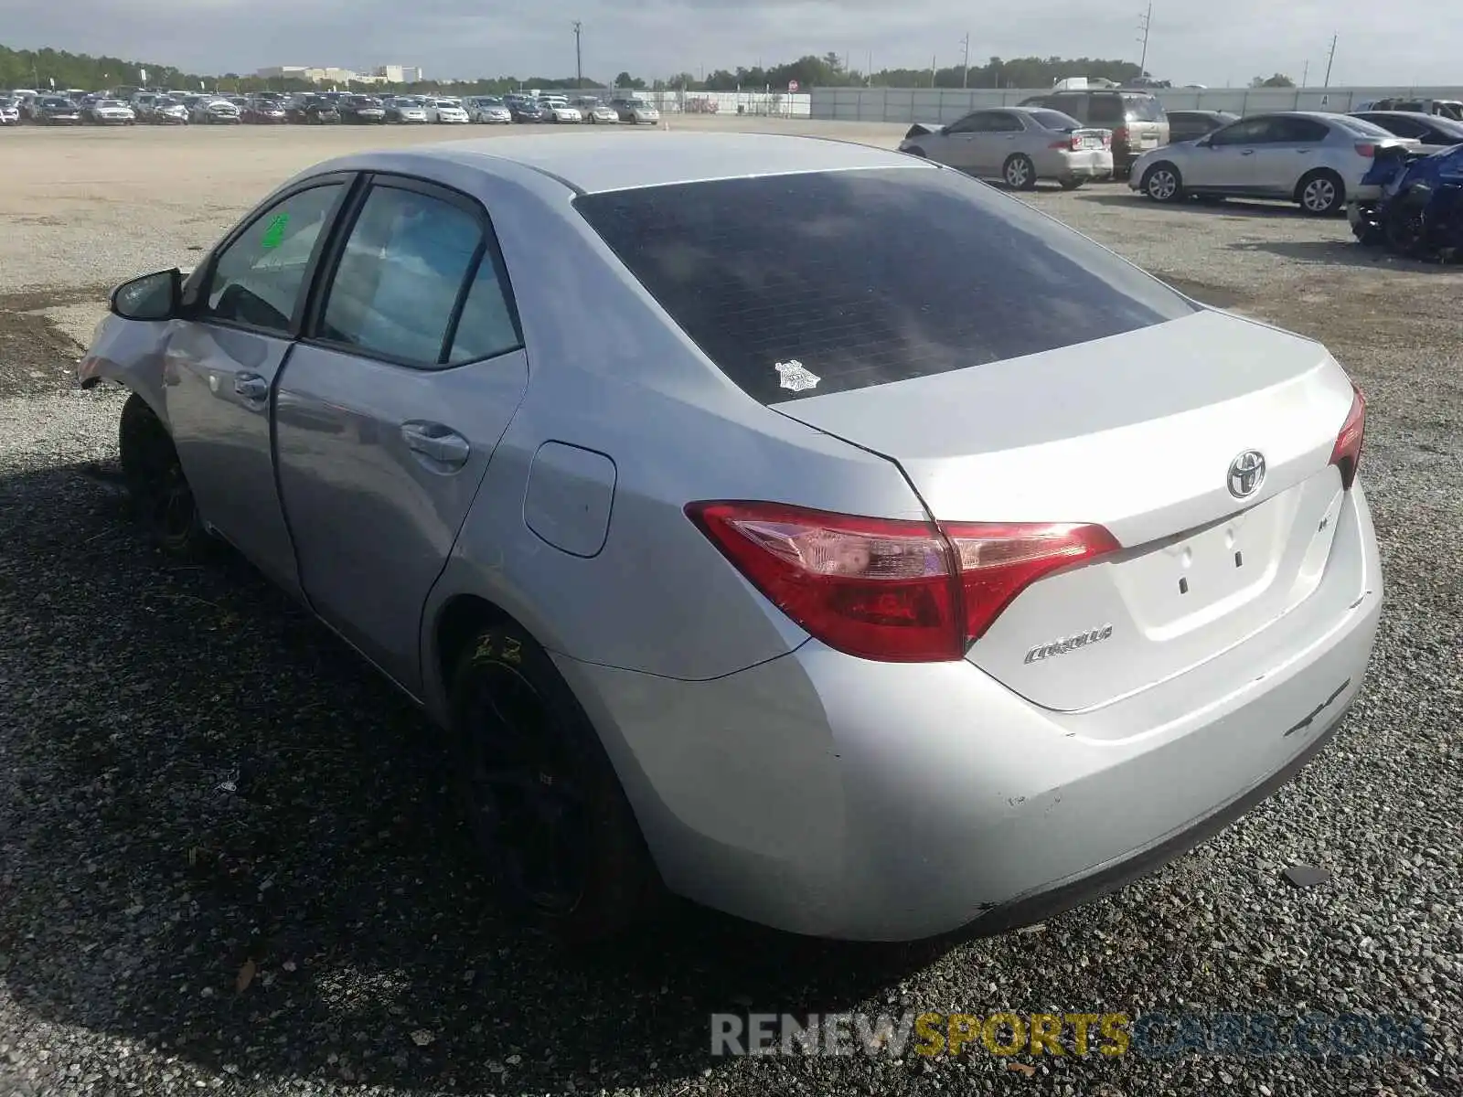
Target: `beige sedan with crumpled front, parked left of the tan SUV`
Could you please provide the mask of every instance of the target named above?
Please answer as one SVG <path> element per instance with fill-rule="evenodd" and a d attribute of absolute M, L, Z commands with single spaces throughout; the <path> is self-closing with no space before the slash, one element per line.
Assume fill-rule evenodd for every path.
<path fill-rule="evenodd" d="M 948 126 L 916 123 L 900 151 L 977 178 L 1001 178 L 1012 190 L 1030 190 L 1042 178 L 1064 190 L 1112 178 L 1112 132 L 1045 107 L 982 108 Z"/>

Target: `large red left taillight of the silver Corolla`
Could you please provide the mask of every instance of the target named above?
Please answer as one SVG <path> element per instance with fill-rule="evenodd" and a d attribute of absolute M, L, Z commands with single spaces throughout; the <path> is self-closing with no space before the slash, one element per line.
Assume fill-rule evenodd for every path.
<path fill-rule="evenodd" d="M 958 660 L 1026 587 L 1118 548 L 1091 525 L 936 527 L 752 502 L 686 515 L 806 632 L 884 663 Z"/>

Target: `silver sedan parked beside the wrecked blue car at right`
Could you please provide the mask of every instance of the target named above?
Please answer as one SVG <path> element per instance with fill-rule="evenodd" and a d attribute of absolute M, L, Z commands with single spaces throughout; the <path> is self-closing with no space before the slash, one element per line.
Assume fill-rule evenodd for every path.
<path fill-rule="evenodd" d="M 1154 202 L 1267 197 L 1328 216 L 1346 208 L 1377 149 L 1390 145 L 1418 142 L 1349 114 L 1252 114 L 1198 140 L 1146 152 L 1128 186 Z"/>

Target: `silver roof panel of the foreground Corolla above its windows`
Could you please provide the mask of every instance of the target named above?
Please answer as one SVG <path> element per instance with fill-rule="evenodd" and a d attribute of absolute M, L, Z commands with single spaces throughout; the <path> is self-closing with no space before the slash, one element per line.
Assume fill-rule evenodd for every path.
<path fill-rule="evenodd" d="M 454 140 L 383 151 L 394 164 L 496 161 L 554 177 L 581 193 L 631 190 L 752 176 L 854 168 L 938 170 L 904 154 L 827 137 L 775 133 L 533 135 L 515 140 Z M 372 154 L 353 157 L 369 170 Z M 486 167 L 486 165 L 484 165 Z"/>

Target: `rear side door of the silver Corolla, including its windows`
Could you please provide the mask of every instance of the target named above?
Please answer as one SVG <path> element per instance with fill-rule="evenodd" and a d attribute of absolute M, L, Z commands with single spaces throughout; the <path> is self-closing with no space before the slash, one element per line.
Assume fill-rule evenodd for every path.
<path fill-rule="evenodd" d="M 375 176 L 278 389 L 279 491 L 315 611 L 411 692 L 421 608 L 528 383 L 492 222 Z"/>

